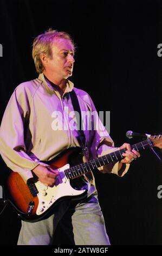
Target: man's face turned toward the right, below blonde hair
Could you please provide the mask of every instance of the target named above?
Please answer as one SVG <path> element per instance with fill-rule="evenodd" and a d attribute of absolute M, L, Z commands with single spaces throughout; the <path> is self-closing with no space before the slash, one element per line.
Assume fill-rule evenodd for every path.
<path fill-rule="evenodd" d="M 46 70 L 57 78 L 72 76 L 74 64 L 74 46 L 68 39 L 55 39 L 51 46 L 52 59 L 48 58 Z"/>

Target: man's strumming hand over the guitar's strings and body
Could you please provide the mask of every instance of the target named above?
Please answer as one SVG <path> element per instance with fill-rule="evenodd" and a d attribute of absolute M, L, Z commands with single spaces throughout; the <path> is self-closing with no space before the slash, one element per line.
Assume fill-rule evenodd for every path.
<path fill-rule="evenodd" d="M 50 167 L 41 166 L 41 164 L 36 166 L 33 169 L 33 172 L 38 177 L 38 180 L 40 180 L 46 186 L 52 186 L 56 181 L 57 175 L 59 175 L 58 170 L 53 170 Z"/>

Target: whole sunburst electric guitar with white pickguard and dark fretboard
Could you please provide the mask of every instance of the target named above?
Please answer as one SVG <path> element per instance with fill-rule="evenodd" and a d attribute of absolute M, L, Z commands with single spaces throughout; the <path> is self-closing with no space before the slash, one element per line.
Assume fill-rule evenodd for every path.
<path fill-rule="evenodd" d="M 131 146 L 137 151 L 152 147 L 162 148 L 161 135 L 151 136 Z M 78 147 L 67 149 L 48 162 L 51 168 L 59 170 L 55 184 L 48 187 L 38 180 L 25 184 L 20 174 L 11 172 L 8 178 L 9 201 L 23 220 L 39 221 L 61 200 L 66 198 L 78 200 L 86 197 L 87 189 L 83 186 L 77 187 L 75 181 L 82 179 L 83 174 L 100 166 L 121 160 L 125 150 L 120 149 L 95 160 L 74 165 L 73 160 L 81 155 L 81 149 Z"/>

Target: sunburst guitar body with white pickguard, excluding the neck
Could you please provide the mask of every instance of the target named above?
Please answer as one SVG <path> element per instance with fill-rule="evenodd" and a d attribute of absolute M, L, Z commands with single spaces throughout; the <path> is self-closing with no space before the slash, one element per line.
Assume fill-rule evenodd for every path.
<path fill-rule="evenodd" d="M 8 178 L 9 198 L 18 215 L 29 222 L 40 221 L 50 213 L 57 203 L 64 199 L 79 200 L 86 197 L 87 188 L 83 175 L 68 179 L 64 170 L 79 163 L 82 159 L 80 148 L 65 150 L 54 160 L 47 162 L 51 168 L 58 169 L 59 175 L 53 186 L 47 187 L 36 180 L 25 184 L 21 175 L 11 172 Z"/>

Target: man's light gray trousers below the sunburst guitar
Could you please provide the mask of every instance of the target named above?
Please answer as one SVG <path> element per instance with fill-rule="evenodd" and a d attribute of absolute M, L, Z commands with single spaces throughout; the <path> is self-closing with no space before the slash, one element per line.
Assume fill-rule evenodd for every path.
<path fill-rule="evenodd" d="M 61 202 L 55 214 L 46 220 L 22 221 L 17 244 L 52 245 L 57 224 L 69 212 L 75 245 L 110 245 L 96 191 L 82 202 Z M 63 224 L 63 230 L 68 234 L 68 225 Z"/>

